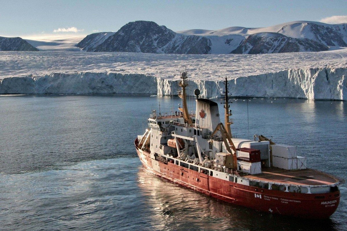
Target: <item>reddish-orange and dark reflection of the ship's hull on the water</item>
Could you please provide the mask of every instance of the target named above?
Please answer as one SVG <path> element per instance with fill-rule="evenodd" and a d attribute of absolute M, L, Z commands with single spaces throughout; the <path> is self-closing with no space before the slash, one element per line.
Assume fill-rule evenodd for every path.
<path fill-rule="evenodd" d="M 140 168 L 138 187 L 159 230 L 335 230 L 331 219 L 307 221 L 258 212 L 186 189 Z"/>

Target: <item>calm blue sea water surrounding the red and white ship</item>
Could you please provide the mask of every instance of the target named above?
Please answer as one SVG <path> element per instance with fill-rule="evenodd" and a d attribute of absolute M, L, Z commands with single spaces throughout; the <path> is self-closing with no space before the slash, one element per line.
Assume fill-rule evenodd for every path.
<path fill-rule="evenodd" d="M 1 96 L 0 230 L 347 230 L 346 185 L 330 219 L 307 221 L 230 205 L 145 171 L 133 141 L 158 101 L 163 113 L 180 103 Z M 296 145 L 311 168 L 347 178 L 347 102 L 249 99 L 249 126 L 247 100 L 231 107 L 234 134 Z"/>

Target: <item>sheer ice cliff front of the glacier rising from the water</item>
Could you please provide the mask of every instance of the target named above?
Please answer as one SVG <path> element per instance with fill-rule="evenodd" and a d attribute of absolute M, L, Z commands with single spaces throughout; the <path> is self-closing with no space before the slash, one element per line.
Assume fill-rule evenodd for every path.
<path fill-rule="evenodd" d="M 311 100 L 347 100 L 346 68 L 293 68 L 229 80 L 235 96 L 291 97 Z M 188 93 L 199 88 L 207 97 L 220 97 L 222 79 L 190 80 Z M 76 72 L 27 75 L 0 79 L 0 94 L 130 93 L 177 95 L 176 80 L 144 74 Z"/>

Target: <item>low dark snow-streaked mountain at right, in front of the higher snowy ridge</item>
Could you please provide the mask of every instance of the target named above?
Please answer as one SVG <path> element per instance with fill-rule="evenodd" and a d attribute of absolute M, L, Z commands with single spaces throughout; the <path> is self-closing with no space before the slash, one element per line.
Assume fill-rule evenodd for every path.
<path fill-rule="evenodd" d="M 231 53 L 265 54 L 327 50 L 328 46 L 308 38 L 291 38 L 280 33 L 260 32 L 246 37 Z"/>

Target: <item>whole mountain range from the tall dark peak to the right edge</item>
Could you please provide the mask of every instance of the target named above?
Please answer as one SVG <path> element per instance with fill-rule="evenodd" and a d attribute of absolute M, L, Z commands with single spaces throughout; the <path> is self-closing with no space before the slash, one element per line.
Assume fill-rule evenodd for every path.
<path fill-rule="evenodd" d="M 261 32 L 269 33 L 259 34 Z M 264 28 L 228 27 L 174 32 L 154 22 L 136 21 L 126 24 L 116 33 L 90 34 L 77 46 L 96 52 L 174 54 L 325 51 L 328 46 L 347 46 L 347 24 L 296 21 Z"/>

